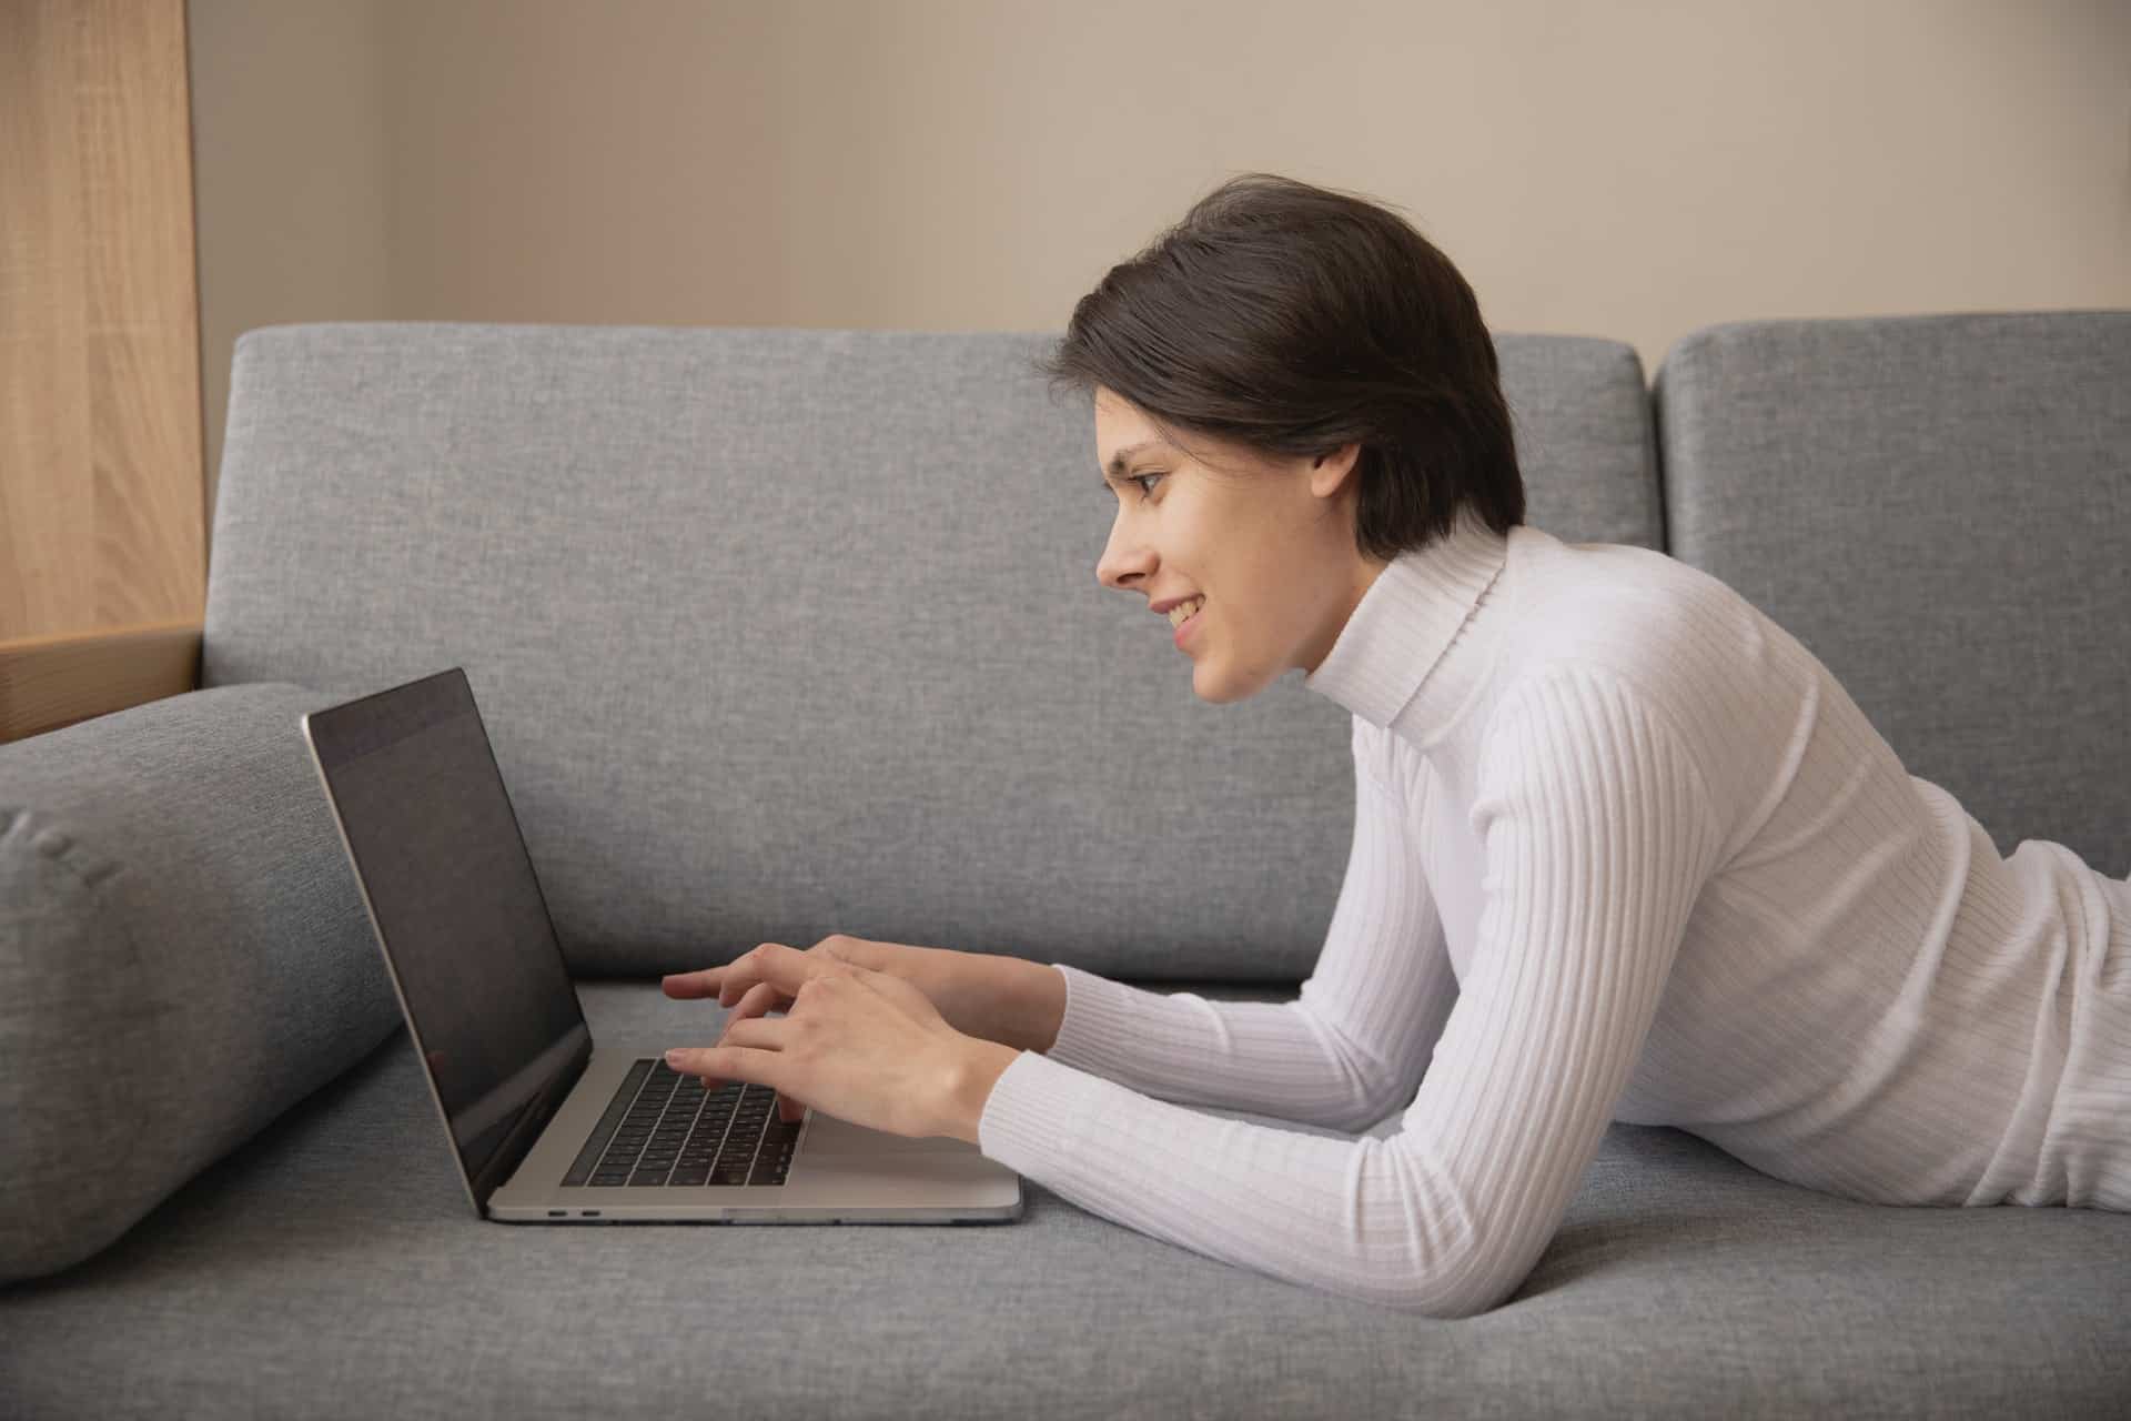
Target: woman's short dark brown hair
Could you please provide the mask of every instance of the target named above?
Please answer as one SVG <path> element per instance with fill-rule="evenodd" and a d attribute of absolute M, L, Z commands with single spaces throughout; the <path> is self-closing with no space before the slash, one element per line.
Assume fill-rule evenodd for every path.
<path fill-rule="evenodd" d="M 1494 339 L 1449 258 L 1404 217 L 1345 192 L 1245 173 L 1112 266 L 1036 366 L 1097 386 L 1157 428 L 1266 456 L 1349 441 L 1355 543 L 1389 562 L 1460 507 L 1524 522 L 1524 475 Z"/>

